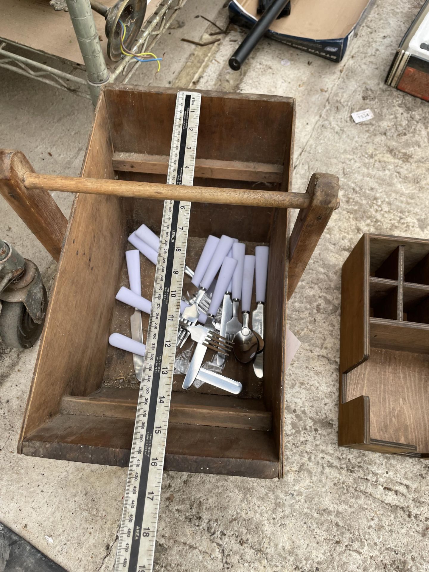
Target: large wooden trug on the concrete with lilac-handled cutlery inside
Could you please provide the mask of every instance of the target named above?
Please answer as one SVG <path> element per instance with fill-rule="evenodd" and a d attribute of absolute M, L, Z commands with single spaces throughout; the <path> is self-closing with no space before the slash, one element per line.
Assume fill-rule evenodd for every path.
<path fill-rule="evenodd" d="M 98 102 L 82 177 L 165 182 L 176 93 L 107 86 Z M 291 98 L 202 92 L 194 184 L 287 192 L 294 121 Z M 196 264 L 210 233 L 244 241 L 248 253 L 256 244 L 271 248 L 265 370 L 264 379 L 258 380 L 251 364 L 230 359 L 224 374 L 244 387 L 237 397 L 206 385 L 183 392 L 183 376 L 174 376 L 166 470 L 283 475 L 287 288 L 290 296 L 335 208 L 337 188 L 336 177 L 313 175 L 308 192 L 313 198 L 329 198 L 313 201 L 312 215 L 308 209 L 300 212 L 291 236 L 289 280 L 286 209 L 192 203 L 189 265 Z M 142 198 L 76 196 L 19 452 L 128 464 L 138 386 L 132 356 L 109 347 L 108 337 L 113 331 L 130 335 L 133 310 L 115 300 L 118 288 L 128 285 L 124 253 L 132 247 L 127 237 L 142 223 L 159 231 L 163 205 Z M 141 266 L 142 295 L 151 299 L 154 267 L 144 259 Z M 185 290 L 191 287 L 185 277 Z M 143 325 L 145 337 L 147 316 Z"/>

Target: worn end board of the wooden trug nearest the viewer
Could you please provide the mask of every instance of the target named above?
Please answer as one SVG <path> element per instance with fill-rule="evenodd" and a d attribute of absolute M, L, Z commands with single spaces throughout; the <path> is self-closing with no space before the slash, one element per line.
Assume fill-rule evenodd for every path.
<path fill-rule="evenodd" d="M 126 467 L 133 430 L 132 419 L 59 414 L 25 438 L 22 452 Z M 279 457 L 271 431 L 173 423 L 168 427 L 164 468 L 272 479 L 279 476 Z"/>

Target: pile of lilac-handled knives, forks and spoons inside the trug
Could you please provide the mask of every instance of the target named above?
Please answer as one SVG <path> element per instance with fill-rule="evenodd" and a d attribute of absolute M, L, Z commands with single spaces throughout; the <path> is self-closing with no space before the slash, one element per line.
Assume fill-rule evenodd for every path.
<path fill-rule="evenodd" d="M 143 224 L 128 240 L 136 248 L 125 253 L 130 287 L 121 287 L 116 299 L 134 308 L 130 317 L 132 337 L 112 333 L 109 343 L 133 353 L 134 371 L 141 381 L 145 355 L 141 312 L 150 314 L 151 302 L 141 295 L 140 253 L 156 265 L 160 239 Z M 196 345 L 182 384 L 184 389 L 191 387 L 196 380 L 234 395 L 243 389 L 240 382 L 202 367 L 207 349 L 215 352 L 214 364 L 217 367 L 223 368 L 233 351 L 241 363 L 253 360 L 255 375 L 263 378 L 268 250 L 268 247 L 258 246 L 254 256 L 246 255 L 245 244 L 237 239 L 227 235 L 220 238 L 209 235 L 195 271 L 185 267 L 195 291 L 187 301 L 181 301 L 176 347 L 183 347 L 189 337 Z M 251 329 L 249 320 L 254 276 L 256 309 L 252 313 Z M 242 321 L 239 320 L 240 301 Z"/>

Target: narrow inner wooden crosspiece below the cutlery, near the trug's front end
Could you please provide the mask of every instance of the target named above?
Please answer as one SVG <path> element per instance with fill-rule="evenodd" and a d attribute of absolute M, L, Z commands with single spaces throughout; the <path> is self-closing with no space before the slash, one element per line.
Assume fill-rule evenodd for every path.
<path fill-rule="evenodd" d="M 135 419 L 137 399 L 138 390 L 114 390 L 113 394 L 101 390 L 86 397 L 67 395 L 62 399 L 61 413 Z M 271 412 L 265 411 L 263 402 L 257 399 L 173 392 L 169 422 L 269 431 Z"/>

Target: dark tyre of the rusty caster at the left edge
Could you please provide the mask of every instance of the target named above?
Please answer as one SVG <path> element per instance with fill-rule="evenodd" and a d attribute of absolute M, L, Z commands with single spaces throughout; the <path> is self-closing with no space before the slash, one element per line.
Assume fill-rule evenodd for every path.
<path fill-rule="evenodd" d="M 46 315 L 47 293 L 43 286 L 42 312 Z M 7 348 L 28 349 L 39 339 L 43 324 L 35 323 L 22 302 L 3 302 L 0 311 L 0 337 Z"/>

